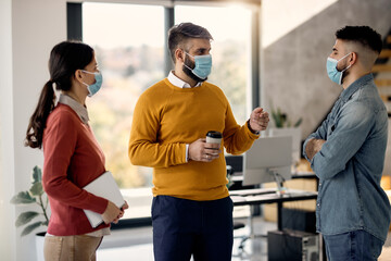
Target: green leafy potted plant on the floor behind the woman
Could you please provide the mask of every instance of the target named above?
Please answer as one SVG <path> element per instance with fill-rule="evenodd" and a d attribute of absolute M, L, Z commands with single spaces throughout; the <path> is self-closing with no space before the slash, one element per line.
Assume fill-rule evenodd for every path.
<path fill-rule="evenodd" d="M 11 203 L 16 206 L 25 206 L 25 204 L 31 204 L 36 203 L 39 206 L 38 211 L 25 211 L 22 212 L 15 222 L 15 226 L 20 227 L 23 225 L 27 225 L 35 221 L 34 223 L 27 225 L 22 231 L 21 236 L 25 236 L 30 234 L 34 229 L 40 227 L 40 226 L 48 226 L 49 219 L 47 209 L 49 207 L 49 201 L 46 192 L 43 191 L 42 187 L 42 171 L 39 166 L 35 166 L 33 169 L 31 173 L 31 187 L 27 191 L 21 191 L 17 195 L 15 195 L 11 199 Z M 43 220 L 36 220 L 38 216 L 43 216 Z M 46 233 L 38 233 L 36 234 L 36 245 L 37 245 L 37 257 L 38 260 L 43 260 L 43 236 Z"/>

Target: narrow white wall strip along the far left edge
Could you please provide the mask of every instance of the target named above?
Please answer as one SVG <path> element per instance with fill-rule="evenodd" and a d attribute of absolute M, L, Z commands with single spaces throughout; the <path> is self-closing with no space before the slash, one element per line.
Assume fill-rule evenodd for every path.
<path fill-rule="evenodd" d="M 0 170 L 0 252 L 3 260 L 14 260 L 15 228 L 14 208 L 9 203 L 14 192 L 13 177 L 13 127 L 12 127 L 12 40 L 11 0 L 0 1 L 0 121 L 1 162 Z"/>

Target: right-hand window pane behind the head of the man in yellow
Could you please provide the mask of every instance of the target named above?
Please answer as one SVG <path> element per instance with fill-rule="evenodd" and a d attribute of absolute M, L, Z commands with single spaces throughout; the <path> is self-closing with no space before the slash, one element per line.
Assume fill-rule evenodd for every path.
<path fill-rule="evenodd" d="M 209 82 L 223 89 L 237 122 L 244 124 L 249 117 L 247 96 L 251 83 L 251 10 L 240 7 L 176 5 L 175 24 L 182 22 L 201 25 L 212 34 L 213 69 Z"/>

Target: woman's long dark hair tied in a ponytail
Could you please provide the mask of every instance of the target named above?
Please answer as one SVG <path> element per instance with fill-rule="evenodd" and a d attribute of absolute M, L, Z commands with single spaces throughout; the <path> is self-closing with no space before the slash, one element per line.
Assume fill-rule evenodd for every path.
<path fill-rule="evenodd" d="M 63 41 L 54 46 L 49 58 L 50 79 L 45 84 L 26 132 L 25 146 L 42 147 L 43 129 L 50 112 L 54 109 L 56 90 L 70 90 L 76 70 L 85 69 L 93 58 L 93 49 L 77 41 Z"/>

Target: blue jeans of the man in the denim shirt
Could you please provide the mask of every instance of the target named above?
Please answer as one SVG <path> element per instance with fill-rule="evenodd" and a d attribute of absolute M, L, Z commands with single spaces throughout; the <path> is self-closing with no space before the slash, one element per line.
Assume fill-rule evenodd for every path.
<path fill-rule="evenodd" d="M 373 261 L 381 253 L 382 240 L 365 231 L 353 231 L 325 236 L 326 254 L 329 261 Z"/>

